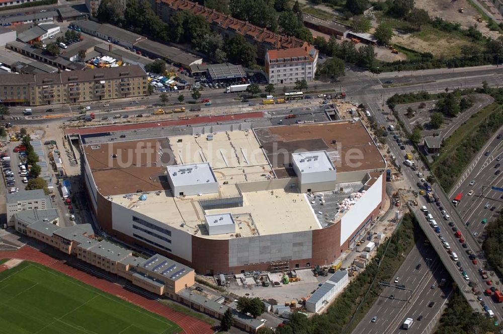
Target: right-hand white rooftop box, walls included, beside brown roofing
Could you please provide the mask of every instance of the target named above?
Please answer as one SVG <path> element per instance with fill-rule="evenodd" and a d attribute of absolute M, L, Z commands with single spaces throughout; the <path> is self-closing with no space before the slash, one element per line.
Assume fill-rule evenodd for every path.
<path fill-rule="evenodd" d="M 335 189 L 336 167 L 326 151 L 292 153 L 292 165 L 302 193 Z"/>

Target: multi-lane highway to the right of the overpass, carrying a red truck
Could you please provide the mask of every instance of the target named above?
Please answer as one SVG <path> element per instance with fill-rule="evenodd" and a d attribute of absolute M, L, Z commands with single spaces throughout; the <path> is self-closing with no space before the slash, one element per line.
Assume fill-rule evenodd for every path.
<path fill-rule="evenodd" d="M 482 223 L 487 219 L 487 224 L 498 216 L 503 208 L 503 192 L 491 190 L 491 186 L 503 187 L 503 174 L 495 175 L 496 171 L 503 168 L 503 141 L 497 139 L 497 135 L 503 132 L 503 127 L 497 131 L 487 144 L 475 156 L 467 171 L 463 174 L 458 184 L 449 193 L 454 198 L 458 193 L 463 194 L 461 203 L 456 207 L 464 224 L 469 223 L 469 230 L 480 236 L 486 224 Z M 489 155 L 485 152 L 489 151 Z M 499 161 L 497 159 L 500 159 Z M 497 164 L 500 164 L 496 168 Z M 473 185 L 470 185 L 474 182 Z M 468 195 L 473 191 L 472 195 Z M 486 208 L 486 205 L 489 207 Z M 491 208 L 494 207 L 494 210 Z"/>

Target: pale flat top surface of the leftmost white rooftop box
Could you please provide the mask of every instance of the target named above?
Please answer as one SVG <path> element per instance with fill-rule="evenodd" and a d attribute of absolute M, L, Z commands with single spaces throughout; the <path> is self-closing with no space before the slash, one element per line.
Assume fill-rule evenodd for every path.
<path fill-rule="evenodd" d="M 217 182 L 208 162 L 177 164 L 166 169 L 176 187 Z"/>

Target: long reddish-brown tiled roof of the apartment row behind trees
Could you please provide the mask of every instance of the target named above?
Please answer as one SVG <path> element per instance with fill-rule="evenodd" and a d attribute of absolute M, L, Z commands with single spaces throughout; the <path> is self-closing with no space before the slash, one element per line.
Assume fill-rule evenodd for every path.
<path fill-rule="evenodd" d="M 201 6 L 192 1 L 156 0 L 156 2 L 166 4 L 176 11 L 191 11 L 194 14 L 201 15 L 209 23 L 217 24 L 224 29 L 233 30 L 238 34 L 248 36 L 257 40 L 258 42 L 269 43 L 278 49 L 301 47 L 304 44 L 304 41 L 302 41 L 301 39 L 273 33 L 266 28 L 257 27 L 247 21 L 235 19 L 229 15 Z"/>

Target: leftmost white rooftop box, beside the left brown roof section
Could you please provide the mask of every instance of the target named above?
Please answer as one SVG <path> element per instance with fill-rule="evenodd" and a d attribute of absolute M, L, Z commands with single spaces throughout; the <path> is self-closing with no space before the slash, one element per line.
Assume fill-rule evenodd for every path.
<path fill-rule="evenodd" d="M 177 164 L 166 169 L 175 197 L 218 192 L 218 182 L 208 162 Z"/>

